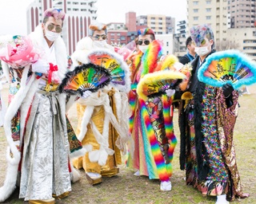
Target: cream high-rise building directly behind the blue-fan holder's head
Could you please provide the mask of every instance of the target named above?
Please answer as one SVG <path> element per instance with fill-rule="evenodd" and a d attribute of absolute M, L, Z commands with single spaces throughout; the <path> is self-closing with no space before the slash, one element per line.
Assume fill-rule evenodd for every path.
<path fill-rule="evenodd" d="M 227 14 L 226 0 L 187 0 L 188 35 L 192 26 L 208 24 L 214 31 L 218 48 L 227 38 Z"/>

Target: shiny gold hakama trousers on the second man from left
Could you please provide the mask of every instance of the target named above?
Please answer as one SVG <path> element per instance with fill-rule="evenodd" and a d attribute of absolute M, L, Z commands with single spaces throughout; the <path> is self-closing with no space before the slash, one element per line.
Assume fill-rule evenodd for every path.
<path fill-rule="evenodd" d="M 114 105 L 114 100 L 112 100 L 112 97 L 110 97 L 110 105 L 113 109 L 114 115 L 116 116 L 116 109 Z M 77 111 L 78 111 L 78 128 L 76 133 L 79 135 L 81 131 L 81 123 L 82 123 L 82 116 L 85 112 L 85 105 L 77 104 Z M 98 128 L 98 131 L 102 134 L 103 131 L 103 124 L 104 124 L 104 108 L 101 107 L 95 107 L 94 113 L 92 116 L 92 120 L 94 121 L 95 126 Z M 86 172 L 94 172 L 101 174 L 102 176 L 113 176 L 116 175 L 118 172 L 116 171 L 116 167 L 119 164 L 122 164 L 122 158 L 121 158 L 121 152 L 116 147 L 115 141 L 118 138 L 118 133 L 114 129 L 114 127 L 110 124 L 109 125 L 109 147 L 114 150 L 114 155 L 108 155 L 106 165 L 100 166 L 98 163 L 92 163 L 89 159 L 89 154 L 86 153 L 86 155 L 73 160 L 73 165 L 77 169 L 83 168 Z M 93 131 L 90 128 L 90 125 L 87 127 L 87 132 L 82 139 L 82 145 L 85 144 L 91 144 L 93 146 L 93 150 L 99 149 L 99 144 L 97 140 L 94 137 Z"/>

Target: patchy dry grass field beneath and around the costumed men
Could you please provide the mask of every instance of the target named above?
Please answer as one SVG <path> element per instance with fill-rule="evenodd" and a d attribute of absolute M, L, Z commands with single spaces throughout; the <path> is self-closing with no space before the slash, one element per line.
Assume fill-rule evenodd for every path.
<path fill-rule="evenodd" d="M 250 95 L 239 98 L 238 120 L 234 131 L 234 144 L 237 154 L 238 171 L 242 180 L 244 192 L 250 194 L 250 198 L 238 200 L 232 203 L 256 203 L 256 85 L 250 86 Z M 3 90 L 6 96 L 7 88 Z M 177 126 L 177 112 L 174 112 L 174 130 L 178 138 L 178 144 L 174 151 L 174 174 L 171 178 L 173 189 L 161 191 L 158 180 L 149 180 L 147 177 L 134 176 L 134 170 L 120 166 L 120 174 L 112 178 L 103 178 L 103 182 L 96 186 L 90 186 L 86 180 L 84 171 L 80 171 L 82 179 L 72 186 L 72 192 L 68 198 L 58 200 L 57 203 L 215 203 L 215 198 L 203 197 L 192 186 L 186 186 L 185 172 L 179 170 L 179 132 Z M 75 108 L 70 110 L 69 117 L 74 126 L 77 123 Z M 0 128 L 0 186 L 2 186 L 6 174 L 6 138 L 3 128 Z M 123 160 L 125 161 L 125 157 Z M 18 190 L 11 195 L 5 203 L 27 203 L 18 199 Z"/>

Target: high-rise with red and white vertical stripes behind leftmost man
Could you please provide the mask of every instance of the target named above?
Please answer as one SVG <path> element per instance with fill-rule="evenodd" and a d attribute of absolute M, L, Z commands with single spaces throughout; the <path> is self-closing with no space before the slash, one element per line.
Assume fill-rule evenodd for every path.
<path fill-rule="evenodd" d="M 88 36 L 90 22 L 97 18 L 97 0 L 35 0 L 27 8 L 27 33 L 42 23 L 44 10 L 54 7 L 63 10 L 66 18 L 63 24 L 62 37 L 69 54 L 74 52 L 75 45 Z"/>

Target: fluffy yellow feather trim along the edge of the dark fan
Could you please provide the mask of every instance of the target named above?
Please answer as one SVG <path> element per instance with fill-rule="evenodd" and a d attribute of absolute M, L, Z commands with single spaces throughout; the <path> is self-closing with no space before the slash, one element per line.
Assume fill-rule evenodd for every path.
<path fill-rule="evenodd" d="M 149 88 L 149 84 L 156 86 L 156 91 L 158 92 L 158 89 L 162 88 L 159 87 L 159 84 L 161 85 L 163 80 L 170 80 L 170 79 L 184 79 L 186 76 L 179 72 L 164 70 L 160 72 L 154 72 L 154 73 L 148 73 L 143 77 L 137 86 L 137 93 L 142 100 L 147 99 L 147 97 L 150 95 L 150 90 L 147 90 Z M 152 90 L 151 90 L 152 91 Z M 155 92 L 151 92 L 155 93 Z"/>

